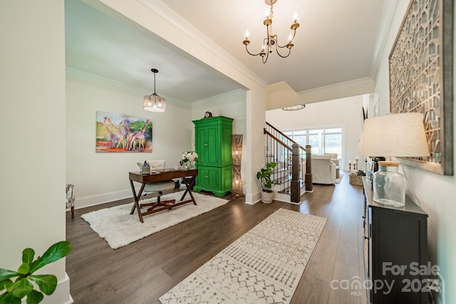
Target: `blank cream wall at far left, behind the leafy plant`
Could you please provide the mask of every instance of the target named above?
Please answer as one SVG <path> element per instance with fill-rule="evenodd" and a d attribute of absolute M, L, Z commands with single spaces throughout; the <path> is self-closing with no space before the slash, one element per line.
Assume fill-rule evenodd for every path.
<path fill-rule="evenodd" d="M 65 234 L 65 23 L 63 1 L 0 3 L 0 268 L 16 270 Z M 67 303 L 65 259 L 40 269 Z"/>

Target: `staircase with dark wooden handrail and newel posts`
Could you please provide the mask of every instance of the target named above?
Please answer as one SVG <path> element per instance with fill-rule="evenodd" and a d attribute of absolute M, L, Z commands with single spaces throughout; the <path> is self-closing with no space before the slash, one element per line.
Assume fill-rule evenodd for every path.
<path fill-rule="evenodd" d="M 266 162 L 276 162 L 272 179 L 274 180 L 274 199 L 299 204 L 301 195 L 312 191 L 311 146 L 302 147 L 273 125 L 266 122 Z M 306 166 L 304 182 L 302 170 Z"/>

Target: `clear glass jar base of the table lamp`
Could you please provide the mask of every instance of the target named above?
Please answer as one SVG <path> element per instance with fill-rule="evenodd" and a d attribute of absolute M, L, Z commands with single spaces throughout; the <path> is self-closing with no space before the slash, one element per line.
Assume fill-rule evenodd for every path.
<path fill-rule="evenodd" d="M 398 162 L 378 162 L 373 174 L 373 201 L 387 206 L 405 206 L 405 178 L 398 172 Z"/>

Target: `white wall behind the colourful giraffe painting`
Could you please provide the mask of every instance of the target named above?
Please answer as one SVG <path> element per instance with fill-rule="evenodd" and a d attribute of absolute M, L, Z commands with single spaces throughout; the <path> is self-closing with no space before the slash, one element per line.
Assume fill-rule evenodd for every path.
<path fill-rule="evenodd" d="M 128 172 L 138 171 L 136 162 L 165 159 L 177 167 L 192 149 L 190 104 L 167 98 L 165 112 L 147 112 L 146 93 L 67 69 L 66 181 L 75 185 L 76 208 L 131 197 Z M 152 152 L 95 152 L 97 110 L 150 119 Z"/>

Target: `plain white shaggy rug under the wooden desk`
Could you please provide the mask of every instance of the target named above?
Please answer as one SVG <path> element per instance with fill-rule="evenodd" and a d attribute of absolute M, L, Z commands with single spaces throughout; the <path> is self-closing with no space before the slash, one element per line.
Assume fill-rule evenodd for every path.
<path fill-rule="evenodd" d="M 175 199 L 179 201 L 182 194 L 184 192 L 166 194 L 161 197 L 161 200 Z M 214 196 L 195 192 L 192 194 L 197 201 L 196 206 L 190 202 L 155 214 L 149 214 L 142 217 L 144 223 L 140 222 L 136 210 L 134 214 L 130 214 L 133 203 L 92 211 L 81 215 L 81 218 L 87 221 L 90 228 L 105 239 L 111 248 L 117 249 L 228 202 L 226 199 L 219 199 Z M 190 195 L 187 194 L 185 199 L 190 199 Z M 156 200 L 156 198 L 145 199 L 140 203 L 144 204 Z"/>

